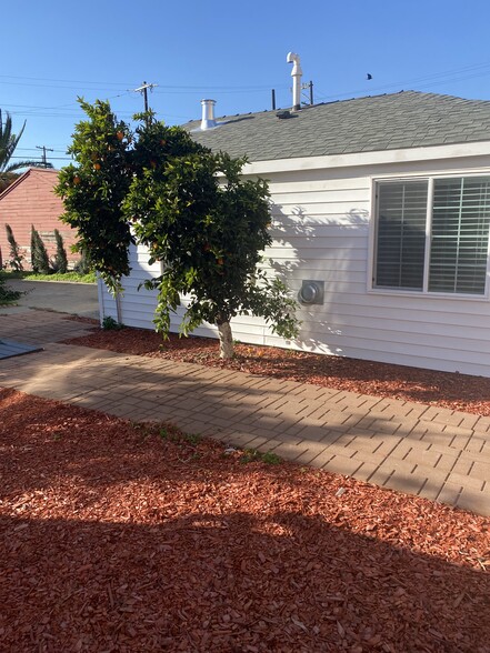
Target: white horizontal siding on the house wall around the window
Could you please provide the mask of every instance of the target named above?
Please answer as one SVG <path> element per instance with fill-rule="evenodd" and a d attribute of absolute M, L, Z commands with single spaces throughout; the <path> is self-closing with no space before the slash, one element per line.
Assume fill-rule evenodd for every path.
<path fill-rule="evenodd" d="M 367 279 L 371 177 L 474 172 L 479 167 L 488 173 L 490 157 L 268 172 L 273 243 L 261 267 L 286 279 L 294 295 L 303 280 L 324 281 L 324 304 L 299 309 L 302 325 L 294 342 L 247 315 L 233 319 L 234 339 L 490 376 L 488 299 L 368 292 Z M 148 260 L 144 249 L 131 249 L 132 273 L 124 280 L 121 308 L 126 324 L 152 329 L 156 292 L 138 290 L 144 279 L 160 273 L 159 264 Z M 172 317 L 174 331 L 183 310 Z M 103 298 L 103 311 L 114 317 L 116 303 L 109 295 Z M 217 335 L 206 324 L 194 333 Z"/>

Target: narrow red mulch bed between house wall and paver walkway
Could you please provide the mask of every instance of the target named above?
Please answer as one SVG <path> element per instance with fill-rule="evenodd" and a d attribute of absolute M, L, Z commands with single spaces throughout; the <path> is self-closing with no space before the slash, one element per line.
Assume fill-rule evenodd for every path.
<path fill-rule="evenodd" d="M 66 341 L 110 351 L 229 368 L 290 379 L 360 394 L 434 404 L 490 415 L 490 379 L 372 361 L 294 352 L 268 346 L 236 345 L 236 358 L 220 361 L 217 340 L 161 335 L 144 329 L 98 330 Z"/>

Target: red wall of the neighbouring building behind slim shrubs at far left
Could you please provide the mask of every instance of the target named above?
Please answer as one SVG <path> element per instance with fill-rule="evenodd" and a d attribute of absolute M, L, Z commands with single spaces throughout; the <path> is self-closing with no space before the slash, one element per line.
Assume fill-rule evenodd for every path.
<path fill-rule="evenodd" d="M 69 267 L 71 268 L 79 259 L 79 255 L 70 250 L 70 245 L 76 242 L 74 231 L 59 220 L 64 208 L 61 199 L 52 190 L 57 182 L 57 171 L 31 168 L 0 195 L 0 254 L 3 265 L 10 259 L 6 224 L 12 228 L 13 237 L 26 257 L 26 270 L 31 268 L 32 224 L 39 231 L 49 257 L 56 254 L 53 232 L 58 229 L 64 241 Z"/>

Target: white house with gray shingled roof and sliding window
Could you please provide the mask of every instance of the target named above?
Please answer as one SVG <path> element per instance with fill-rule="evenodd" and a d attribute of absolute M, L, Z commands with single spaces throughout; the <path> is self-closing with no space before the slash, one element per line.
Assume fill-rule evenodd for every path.
<path fill-rule="evenodd" d="M 207 102 L 188 129 L 269 180 L 266 260 L 312 301 L 294 342 L 250 318 L 236 339 L 490 376 L 490 101 L 407 91 L 218 120 Z M 152 329 L 148 259 L 131 251 L 119 320 Z"/>

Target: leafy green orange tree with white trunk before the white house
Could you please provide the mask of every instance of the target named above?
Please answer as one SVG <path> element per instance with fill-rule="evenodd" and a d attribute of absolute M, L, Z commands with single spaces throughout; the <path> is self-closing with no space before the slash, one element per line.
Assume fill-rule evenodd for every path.
<path fill-rule="evenodd" d="M 152 114 L 138 117 L 142 121 L 130 141 L 128 127 L 117 122 L 109 106 L 96 107 L 106 112 L 107 133 L 102 138 L 97 132 L 98 113 L 92 130 L 87 123 L 82 130 L 78 125 L 77 150 L 71 151 L 79 168 L 64 169 L 58 192 L 66 198 L 64 219 L 79 232 L 81 228 L 92 263 L 109 287 L 117 289 L 129 273 L 128 247 L 133 239 L 148 247 L 151 262 L 162 262 L 161 275 L 144 285 L 158 290 L 154 322 L 163 335 L 170 331 L 171 313 L 182 305 L 181 333 L 187 335 L 204 321 L 216 324 L 221 358 L 233 354 L 230 321 L 239 314 L 260 315 L 279 335 L 294 338 L 299 326 L 296 302 L 279 279 L 268 278 L 260 268 L 261 252 L 271 243 L 267 182 L 244 179 L 243 159 L 213 153 L 186 130 L 166 127 Z M 91 117 L 93 108 L 83 108 Z M 119 140 L 118 133 L 124 137 Z M 114 159 L 113 150 L 102 155 L 103 148 L 117 145 L 114 138 L 120 157 Z M 103 148 L 96 147 L 100 143 Z M 78 158 L 77 152 L 81 153 Z M 110 189 L 117 187 L 102 193 L 109 227 L 90 218 L 101 197 L 97 182 L 86 187 L 83 198 L 77 200 L 82 215 L 73 204 L 82 192 L 84 168 L 91 183 L 100 175 L 102 188 L 108 179 Z M 111 227 L 120 238 L 108 238 Z M 102 228 L 103 244 L 97 241 Z"/>

